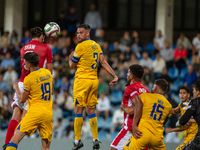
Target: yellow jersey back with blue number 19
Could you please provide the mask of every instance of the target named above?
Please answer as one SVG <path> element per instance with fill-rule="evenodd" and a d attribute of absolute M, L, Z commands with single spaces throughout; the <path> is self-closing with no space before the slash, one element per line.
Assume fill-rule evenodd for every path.
<path fill-rule="evenodd" d="M 38 68 L 24 79 L 24 90 L 29 91 L 28 110 L 52 113 L 53 78 L 48 69 Z"/>

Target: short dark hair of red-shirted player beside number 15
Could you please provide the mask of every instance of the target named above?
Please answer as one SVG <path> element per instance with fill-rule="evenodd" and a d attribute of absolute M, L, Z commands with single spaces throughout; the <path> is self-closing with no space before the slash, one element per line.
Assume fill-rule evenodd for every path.
<path fill-rule="evenodd" d="M 131 65 L 129 67 L 129 69 L 133 76 L 135 76 L 139 79 L 142 78 L 142 76 L 144 74 L 144 68 L 141 65 L 134 64 L 134 65 Z"/>

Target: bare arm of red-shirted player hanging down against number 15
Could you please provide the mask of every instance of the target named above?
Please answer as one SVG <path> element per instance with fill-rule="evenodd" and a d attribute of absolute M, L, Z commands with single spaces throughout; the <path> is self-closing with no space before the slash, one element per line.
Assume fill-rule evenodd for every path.
<path fill-rule="evenodd" d="M 135 95 L 135 97 L 133 98 L 133 105 L 135 105 L 134 108 L 134 117 L 133 117 L 133 124 L 132 124 L 132 128 L 133 128 L 133 136 L 138 139 L 142 136 L 142 132 L 139 131 L 137 125 L 138 122 L 142 116 L 142 107 L 143 107 L 143 103 L 140 99 L 139 95 Z"/>

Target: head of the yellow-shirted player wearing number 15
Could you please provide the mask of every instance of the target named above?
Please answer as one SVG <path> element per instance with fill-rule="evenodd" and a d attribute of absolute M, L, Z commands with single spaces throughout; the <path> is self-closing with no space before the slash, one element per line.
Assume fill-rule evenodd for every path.
<path fill-rule="evenodd" d="M 165 79 L 157 79 L 154 83 L 152 93 L 164 94 L 167 91 L 168 82 Z"/>

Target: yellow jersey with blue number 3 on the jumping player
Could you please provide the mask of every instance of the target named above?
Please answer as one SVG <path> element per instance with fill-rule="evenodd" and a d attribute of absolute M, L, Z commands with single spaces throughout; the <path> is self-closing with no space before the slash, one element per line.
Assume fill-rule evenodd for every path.
<path fill-rule="evenodd" d="M 72 62 L 77 63 L 75 78 L 97 79 L 101 54 L 103 54 L 102 49 L 95 41 L 86 39 L 79 43 L 72 57 Z"/>

